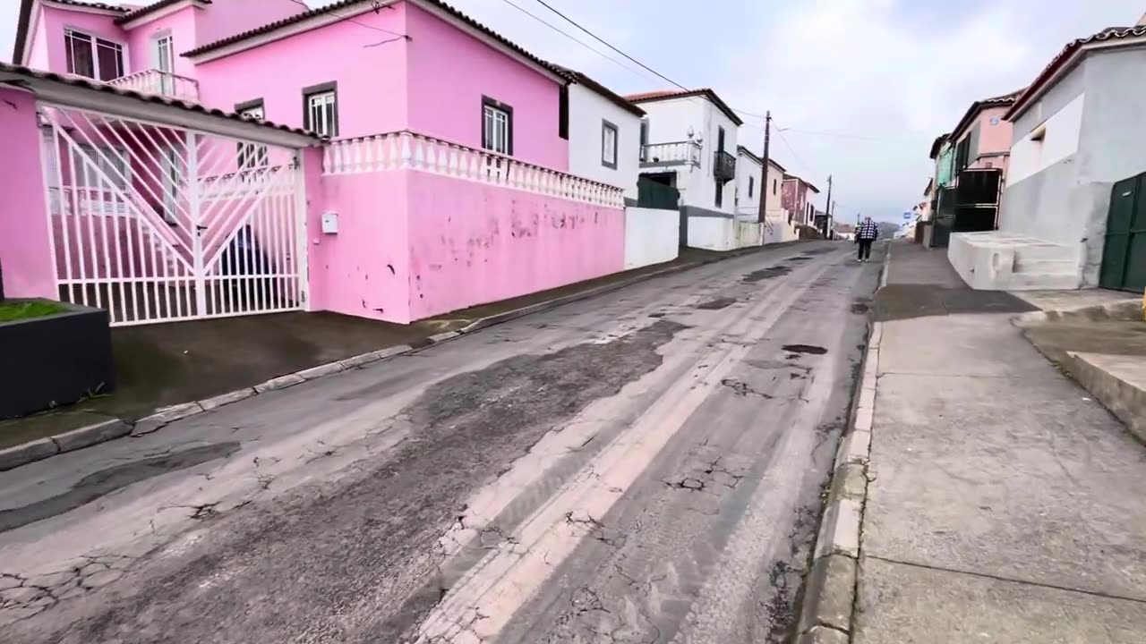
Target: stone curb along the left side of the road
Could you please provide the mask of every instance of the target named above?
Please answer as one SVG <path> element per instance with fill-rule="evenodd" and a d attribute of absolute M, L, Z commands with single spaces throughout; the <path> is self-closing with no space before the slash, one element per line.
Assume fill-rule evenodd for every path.
<path fill-rule="evenodd" d="M 203 414 L 205 411 L 211 411 L 227 405 L 240 402 L 249 398 L 257 396 L 259 394 L 278 391 L 295 385 L 303 384 L 308 380 L 322 378 L 342 371 L 348 371 L 351 369 L 358 369 L 387 358 L 393 358 L 395 355 L 403 355 L 425 348 L 426 346 L 432 346 L 438 343 L 446 340 L 452 340 L 461 337 L 465 333 L 472 333 L 485 329 L 487 327 L 494 327 L 503 322 L 509 322 L 525 315 L 533 313 L 540 313 L 542 311 L 549 311 L 551 308 L 557 308 L 559 306 L 571 304 L 574 301 L 580 301 L 583 299 L 589 299 L 599 294 L 617 291 L 639 282 L 645 282 L 654 277 L 661 277 L 665 275 L 672 275 L 674 273 L 680 273 L 683 270 L 689 270 L 708 264 L 714 264 L 717 261 L 724 261 L 728 259 L 736 259 L 744 257 L 746 254 L 752 254 L 754 252 L 760 252 L 764 249 L 777 249 L 785 246 L 795 246 L 803 243 L 803 241 L 795 242 L 784 242 L 779 244 L 768 244 L 762 246 L 755 246 L 752 249 L 744 250 L 741 252 L 730 251 L 728 254 L 720 257 L 712 257 L 708 259 L 702 259 L 700 261 L 692 261 L 689 264 L 682 264 L 680 266 L 673 266 L 670 268 L 665 268 L 661 270 L 654 270 L 651 273 L 645 273 L 643 275 L 636 275 L 628 280 L 620 282 L 614 282 L 612 284 L 606 284 L 604 286 L 598 286 L 596 289 L 589 289 L 588 291 L 581 291 L 570 296 L 555 298 L 551 300 L 537 303 L 523 308 L 517 308 L 513 311 L 508 311 L 505 313 L 499 313 L 496 315 L 490 315 L 488 317 L 482 317 L 480 320 L 474 320 L 466 327 L 458 329 L 456 331 L 446 331 L 442 333 L 435 333 L 426 338 L 426 344 L 411 346 L 411 345 L 398 345 L 392 347 L 386 347 L 377 351 L 371 351 L 368 353 L 362 353 L 347 358 L 345 360 L 339 360 L 337 362 L 330 362 L 327 364 L 320 364 L 317 367 L 312 367 L 308 369 L 303 369 L 293 374 L 286 374 L 284 376 L 278 376 L 277 378 L 272 378 L 265 383 L 254 385 L 253 387 L 244 387 L 233 392 L 219 394 L 204 400 L 198 400 L 194 402 L 186 402 L 182 405 L 173 405 L 171 407 L 164 407 L 157 409 L 155 414 L 150 416 L 144 416 L 139 421 L 132 423 L 129 419 L 113 419 L 105 423 L 99 423 L 96 425 L 91 425 L 87 427 L 80 427 L 71 432 L 65 432 L 52 438 L 38 439 L 23 445 L 17 445 L 15 447 L 9 447 L 7 449 L 0 449 L 0 472 L 6 470 L 13 470 L 19 468 L 21 465 L 26 465 L 29 463 L 34 463 L 37 461 L 42 461 L 49 458 L 57 454 L 64 451 L 72 451 L 76 449 L 81 449 L 85 447 L 92 447 L 101 442 L 107 442 L 109 440 L 115 440 L 124 437 L 141 437 L 146 434 L 154 433 L 162 430 L 166 425 L 174 423 L 175 421 L 181 421 L 197 414 Z M 125 430 L 126 427 L 126 430 Z M 64 442 L 57 442 L 57 440 L 63 440 Z M 63 445 L 68 445 L 64 449 Z M 827 641 L 824 641 L 827 642 Z"/>

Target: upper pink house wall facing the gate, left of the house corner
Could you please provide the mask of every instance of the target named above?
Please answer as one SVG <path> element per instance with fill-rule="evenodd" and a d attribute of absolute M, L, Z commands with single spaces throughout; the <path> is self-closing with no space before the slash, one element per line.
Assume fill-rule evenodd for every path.
<path fill-rule="evenodd" d="M 337 81 L 340 139 L 406 128 L 407 42 L 367 47 L 386 34 L 362 26 L 402 33 L 405 3 L 354 19 L 199 64 L 199 100 L 233 110 L 262 99 L 268 120 L 301 126 L 303 88 Z"/>

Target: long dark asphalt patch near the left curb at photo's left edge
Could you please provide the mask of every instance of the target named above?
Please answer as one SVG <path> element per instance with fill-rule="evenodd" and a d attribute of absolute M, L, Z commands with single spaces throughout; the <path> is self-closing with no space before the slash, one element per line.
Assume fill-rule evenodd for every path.
<path fill-rule="evenodd" d="M 218 442 L 100 470 L 84 477 L 63 494 L 23 508 L 0 511 L 0 533 L 70 512 L 132 484 L 225 458 L 238 451 L 238 442 Z"/>

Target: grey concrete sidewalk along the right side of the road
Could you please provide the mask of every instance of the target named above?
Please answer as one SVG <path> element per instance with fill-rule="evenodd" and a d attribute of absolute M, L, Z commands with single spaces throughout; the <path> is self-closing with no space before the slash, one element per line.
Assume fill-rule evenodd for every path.
<path fill-rule="evenodd" d="M 1146 448 L 1012 327 L 1029 308 L 893 246 L 853 642 L 1146 642 Z"/>

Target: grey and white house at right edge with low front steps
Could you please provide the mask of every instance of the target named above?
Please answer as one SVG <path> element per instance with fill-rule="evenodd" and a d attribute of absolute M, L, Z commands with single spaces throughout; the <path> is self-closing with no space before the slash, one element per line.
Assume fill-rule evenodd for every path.
<path fill-rule="evenodd" d="M 952 241 L 988 289 L 1146 288 L 1146 25 L 1068 44 L 1014 101 L 999 230 Z"/>

